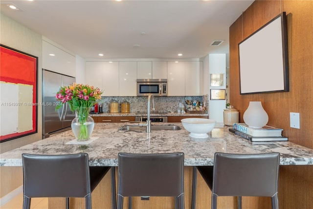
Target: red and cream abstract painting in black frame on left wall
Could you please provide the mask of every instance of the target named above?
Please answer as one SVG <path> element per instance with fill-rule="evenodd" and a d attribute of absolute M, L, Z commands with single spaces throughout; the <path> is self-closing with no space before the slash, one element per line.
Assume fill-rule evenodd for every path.
<path fill-rule="evenodd" d="M 0 45 L 0 142 L 37 133 L 38 57 Z"/>

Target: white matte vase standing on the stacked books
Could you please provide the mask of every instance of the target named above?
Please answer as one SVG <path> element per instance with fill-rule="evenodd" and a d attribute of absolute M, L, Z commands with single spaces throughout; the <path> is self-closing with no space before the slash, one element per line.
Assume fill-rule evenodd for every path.
<path fill-rule="evenodd" d="M 262 107 L 260 101 L 251 101 L 246 112 L 244 121 L 251 128 L 262 128 L 268 123 L 268 114 Z"/>

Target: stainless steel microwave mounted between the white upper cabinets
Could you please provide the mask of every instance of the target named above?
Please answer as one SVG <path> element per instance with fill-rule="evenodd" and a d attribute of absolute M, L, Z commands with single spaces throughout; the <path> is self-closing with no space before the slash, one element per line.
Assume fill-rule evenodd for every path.
<path fill-rule="evenodd" d="M 167 79 L 137 79 L 137 96 L 167 96 Z"/>

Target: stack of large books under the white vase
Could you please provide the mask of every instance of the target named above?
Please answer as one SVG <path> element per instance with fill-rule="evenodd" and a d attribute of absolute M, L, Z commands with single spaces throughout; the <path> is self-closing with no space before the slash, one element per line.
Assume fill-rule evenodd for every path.
<path fill-rule="evenodd" d="M 251 128 L 246 123 L 234 123 L 229 131 L 250 141 L 288 141 L 287 137 L 282 136 L 283 129 L 268 125 Z"/>

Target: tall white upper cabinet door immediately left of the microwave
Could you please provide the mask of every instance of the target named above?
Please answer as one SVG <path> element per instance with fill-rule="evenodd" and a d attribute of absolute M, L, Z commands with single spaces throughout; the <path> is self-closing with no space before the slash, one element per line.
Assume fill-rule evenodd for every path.
<path fill-rule="evenodd" d="M 137 62 L 119 62 L 119 95 L 136 96 Z"/>

